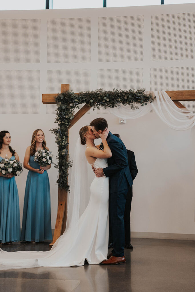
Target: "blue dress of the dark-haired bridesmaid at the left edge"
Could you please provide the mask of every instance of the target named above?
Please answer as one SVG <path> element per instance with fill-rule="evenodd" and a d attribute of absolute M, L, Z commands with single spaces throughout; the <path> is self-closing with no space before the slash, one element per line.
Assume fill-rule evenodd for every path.
<path fill-rule="evenodd" d="M 3 158 L 0 156 L 0 162 Z M 11 159 L 15 159 L 14 156 Z M 18 188 L 13 178 L 0 176 L 0 242 L 20 241 Z"/>

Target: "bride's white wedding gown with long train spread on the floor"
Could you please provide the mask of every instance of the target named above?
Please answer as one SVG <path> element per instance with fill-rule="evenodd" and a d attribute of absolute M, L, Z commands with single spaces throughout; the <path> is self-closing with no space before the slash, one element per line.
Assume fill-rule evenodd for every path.
<path fill-rule="evenodd" d="M 97 158 L 94 163 L 96 168 L 107 166 L 107 159 Z M 84 182 L 81 183 L 84 188 Z M 84 213 L 78 216 L 78 220 L 71 221 L 68 229 L 58 238 L 50 251 L 6 252 L 0 249 L 0 270 L 81 266 L 84 265 L 85 259 L 89 264 L 101 263 L 107 258 L 108 253 L 108 198 L 109 178 L 95 177 Z M 77 206 L 73 205 L 74 211 L 75 208 Z"/>

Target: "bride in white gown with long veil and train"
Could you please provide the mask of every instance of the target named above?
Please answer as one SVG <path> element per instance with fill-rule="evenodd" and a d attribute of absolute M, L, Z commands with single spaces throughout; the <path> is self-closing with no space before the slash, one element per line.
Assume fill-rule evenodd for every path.
<path fill-rule="evenodd" d="M 81 266 L 85 259 L 89 264 L 99 264 L 107 258 L 109 178 L 95 177 L 90 198 L 87 200 L 85 195 L 89 189 L 87 161 L 95 168 L 104 168 L 108 166 L 107 158 L 112 156 L 106 141 L 108 133 L 105 129 L 99 134 L 104 146 L 102 151 L 94 144 L 96 136 L 92 127 L 80 129 L 71 175 L 67 227 L 63 235 L 50 251 L 6 252 L 0 249 L 1 270 Z"/>

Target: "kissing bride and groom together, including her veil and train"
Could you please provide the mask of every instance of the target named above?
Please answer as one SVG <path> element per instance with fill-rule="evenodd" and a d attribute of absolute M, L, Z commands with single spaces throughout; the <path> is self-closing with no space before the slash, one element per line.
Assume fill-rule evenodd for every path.
<path fill-rule="evenodd" d="M 67 227 L 50 251 L 6 252 L 0 249 L 0 270 L 30 267 L 70 267 L 89 264 L 125 264 L 124 212 L 132 186 L 127 150 L 122 140 L 108 131 L 104 118 L 80 129 L 71 173 Z M 95 145 L 94 140 L 102 143 Z M 103 147 L 102 147 L 103 144 Z M 87 158 L 87 159 L 86 159 Z M 95 173 L 89 202 L 85 193 L 87 161 Z M 86 180 L 83 180 L 85 178 Z M 81 212 L 81 206 L 84 211 Z M 109 215 L 113 250 L 108 254 Z"/>

